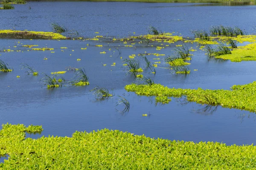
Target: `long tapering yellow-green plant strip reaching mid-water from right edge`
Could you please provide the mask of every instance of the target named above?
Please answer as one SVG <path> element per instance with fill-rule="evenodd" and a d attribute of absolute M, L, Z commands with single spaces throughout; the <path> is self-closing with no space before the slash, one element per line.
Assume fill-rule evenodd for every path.
<path fill-rule="evenodd" d="M 126 91 L 133 91 L 144 96 L 187 96 L 189 102 L 207 105 L 221 105 L 228 108 L 239 108 L 256 112 L 256 82 L 246 85 L 233 85 L 231 90 L 204 90 L 168 88 L 160 84 L 126 85 Z"/>

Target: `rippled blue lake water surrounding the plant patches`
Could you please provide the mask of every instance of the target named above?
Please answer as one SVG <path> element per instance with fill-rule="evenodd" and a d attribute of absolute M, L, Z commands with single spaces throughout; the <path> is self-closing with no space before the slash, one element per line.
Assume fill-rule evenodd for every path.
<path fill-rule="evenodd" d="M 31 9 L 29 9 L 29 6 Z M 147 34 L 148 26 L 156 26 L 162 31 L 175 32 L 184 37 L 193 37 L 191 30 L 208 30 L 213 25 L 238 26 L 253 34 L 256 6 L 196 6 L 192 3 L 124 3 L 124 2 L 29 2 L 15 5 L 15 10 L 0 10 L 0 29 L 51 31 L 50 23 L 58 22 L 70 30 L 76 30 L 81 37 L 128 37 Z M 95 34 L 99 32 L 99 34 Z M 134 34 L 135 32 L 135 34 Z M 20 43 L 18 43 L 20 42 Z M 38 48 L 54 48 L 51 51 L 31 51 L 22 45 L 34 44 Z M 87 44 L 90 44 L 87 46 Z M 103 47 L 95 47 L 101 44 Z M 131 54 L 159 53 L 172 54 L 175 44 L 165 43 L 164 49 L 157 51 L 160 42 L 124 47 L 123 42 L 80 41 L 80 40 L 6 40 L 0 39 L 0 59 L 7 62 L 14 71 L 0 72 L 0 124 L 43 125 L 40 136 L 72 136 L 76 130 L 90 132 L 103 128 L 128 131 L 151 138 L 184 141 L 217 141 L 226 144 L 252 144 L 255 142 L 255 113 L 229 108 L 210 108 L 196 103 L 184 104 L 175 101 L 166 105 L 155 105 L 154 97 L 137 96 L 125 91 L 125 85 L 134 82 L 127 74 L 123 60 Z M 120 46 L 119 46 L 120 45 Z M 150 45 L 154 45 L 151 47 Z M 17 47 L 14 47 L 17 46 Z M 163 56 L 156 68 L 157 74 L 145 69 L 144 76 L 170 88 L 230 89 L 232 85 L 246 84 L 255 80 L 254 62 L 230 62 L 208 59 L 197 44 L 187 44 L 197 51 L 192 52 L 189 68 L 191 73 L 172 74 Z M 60 47 L 67 47 L 61 49 Z M 87 47 L 87 50 L 81 48 Z M 118 47 L 122 52 L 115 49 Z M 111 50 L 109 50 L 111 48 Z M 20 50 L 20 52 L 17 52 Z M 30 51 L 27 51 L 30 50 Z M 64 51 L 61 51 L 64 50 Z M 72 51 L 73 50 L 73 51 Z M 22 52 L 23 51 L 23 52 Z M 106 54 L 100 52 L 106 51 Z M 114 52 L 115 51 L 115 52 Z M 71 55 L 70 55 L 71 54 Z M 122 59 L 120 59 L 122 56 Z M 47 60 L 44 60 L 47 57 Z M 81 61 L 77 61 L 81 58 Z M 141 66 L 145 62 L 140 57 Z M 116 62 L 115 66 L 111 66 Z M 21 63 L 35 68 L 40 75 L 27 75 L 21 70 Z M 107 64 L 103 66 L 103 64 Z M 40 79 L 44 74 L 65 71 L 71 66 L 84 67 L 90 85 L 86 87 L 64 86 L 47 89 Z M 193 71 L 198 69 L 198 71 Z M 16 76 L 19 75 L 20 78 Z M 70 71 L 63 76 L 67 81 L 75 75 Z M 114 97 L 97 101 L 91 89 L 108 88 Z M 122 113 L 122 105 L 116 106 L 118 95 L 130 102 L 129 112 Z M 148 114 L 148 117 L 142 116 Z"/>

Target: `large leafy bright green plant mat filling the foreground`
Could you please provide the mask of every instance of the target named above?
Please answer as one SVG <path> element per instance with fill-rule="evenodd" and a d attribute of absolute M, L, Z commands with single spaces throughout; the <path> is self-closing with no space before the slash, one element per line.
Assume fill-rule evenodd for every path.
<path fill-rule="evenodd" d="M 146 115 L 144 115 L 146 116 Z M 72 137 L 26 138 L 24 125 L 3 125 L 0 169 L 255 169 L 256 147 L 218 142 L 151 139 L 119 130 L 73 133 Z"/>

